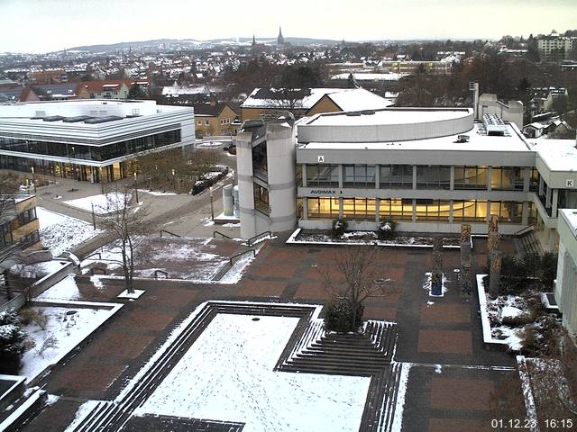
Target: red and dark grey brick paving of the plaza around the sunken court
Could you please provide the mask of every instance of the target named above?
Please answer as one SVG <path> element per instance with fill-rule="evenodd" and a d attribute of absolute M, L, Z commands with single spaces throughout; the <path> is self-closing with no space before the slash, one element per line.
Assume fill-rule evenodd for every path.
<path fill-rule="evenodd" d="M 272 240 L 263 247 L 238 284 L 138 281 L 137 288 L 146 289 L 142 298 L 124 301 L 123 310 L 41 385 L 50 393 L 78 401 L 114 399 L 171 329 L 206 300 L 325 302 L 329 295 L 319 268 L 334 271 L 330 262 L 338 248 L 289 247 L 282 240 Z M 432 265 L 430 249 L 385 248 L 383 268 L 398 293 L 366 302 L 365 318 L 396 320 L 395 359 L 415 364 L 408 379 L 403 431 L 489 430 L 490 392 L 504 375 L 516 373 L 476 366 L 513 366 L 515 362 L 506 353 L 483 347 L 478 302 L 474 296 L 469 301 L 463 299 L 453 272 L 459 252 L 444 250 L 443 255 L 448 291 L 443 298 L 429 298 L 423 281 Z M 484 266 L 485 259 L 483 240 L 475 240 L 473 273 Z M 104 290 L 95 290 L 87 278 L 78 279 L 82 300 L 120 302 L 114 297 L 122 291 L 122 281 L 105 281 Z M 435 371 L 437 364 L 443 365 L 440 371 Z M 60 400 L 23 430 L 63 430 L 62 425 L 74 417 L 77 406 Z"/>

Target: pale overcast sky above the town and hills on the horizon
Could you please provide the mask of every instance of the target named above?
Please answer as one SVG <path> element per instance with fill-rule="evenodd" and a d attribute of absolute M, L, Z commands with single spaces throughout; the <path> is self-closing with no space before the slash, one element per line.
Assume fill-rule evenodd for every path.
<path fill-rule="evenodd" d="M 498 39 L 577 27 L 577 0 L 0 0 L 0 52 L 120 41 Z"/>

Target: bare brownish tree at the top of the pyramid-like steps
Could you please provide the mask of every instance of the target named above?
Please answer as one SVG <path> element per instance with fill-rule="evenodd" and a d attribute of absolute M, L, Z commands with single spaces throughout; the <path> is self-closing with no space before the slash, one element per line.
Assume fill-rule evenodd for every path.
<path fill-rule="evenodd" d="M 379 247 L 343 247 L 334 253 L 332 266 L 319 269 L 325 287 L 336 302 L 345 302 L 352 311 L 351 328 L 361 325 L 362 302 L 370 297 L 387 298 L 395 290 L 386 276 L 385 260 Z"/>

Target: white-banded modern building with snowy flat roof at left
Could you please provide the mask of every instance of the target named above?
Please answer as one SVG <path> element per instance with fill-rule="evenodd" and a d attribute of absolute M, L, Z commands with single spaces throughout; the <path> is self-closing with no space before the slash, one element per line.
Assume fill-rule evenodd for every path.
<path fill-rule="evenodd" d="M 194 142 L 190 107 L 118 100 L 0 104 L 0 168 L 108 182 L 132 175 L 133 157 Z"/>

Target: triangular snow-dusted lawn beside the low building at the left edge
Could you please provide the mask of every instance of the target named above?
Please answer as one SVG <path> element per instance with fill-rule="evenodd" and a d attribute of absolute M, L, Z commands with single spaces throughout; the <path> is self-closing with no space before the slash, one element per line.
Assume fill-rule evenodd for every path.
<path fill-rule="evenodd" d="M 40 238 L 42 244 L 48 247 L 54 257 L 65 250 L 84 243 L 102 232 L 84 220 L 71 218 L 64 214 L 36 207 L 36 215 L 40 222 Z"/>

